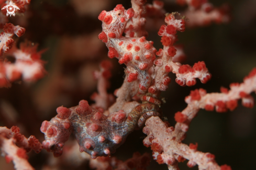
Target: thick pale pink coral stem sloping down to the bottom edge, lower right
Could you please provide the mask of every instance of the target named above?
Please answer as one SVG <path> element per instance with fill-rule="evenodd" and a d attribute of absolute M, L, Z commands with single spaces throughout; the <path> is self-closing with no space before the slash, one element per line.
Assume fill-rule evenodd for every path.
<path fill-rule="evenodd" d="M 148 137 L 143 140 L 143 144 L 147 147 L 151 146 L 154 160 L 159 164 L 167 164 L 169 169 L 179 169 L 177 162 L 183 162 L 184 158 L 190 160 L 187 163 L 189 167 L 197 164 L 198 169 L 221 169 L 215 162 L 213 154 L 199 152 L 197 146 L 180 143 L 175 138 L 173 130 L 173 127 L 166 126 L 159 117 L 151 117 L 146 121 L 143 132 Z"/>

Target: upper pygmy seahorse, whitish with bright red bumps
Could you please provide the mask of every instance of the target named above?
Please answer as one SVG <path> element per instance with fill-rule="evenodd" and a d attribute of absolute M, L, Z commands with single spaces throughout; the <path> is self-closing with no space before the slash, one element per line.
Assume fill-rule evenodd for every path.
<path fill-rule="evenodd" d="M 114 10 L 106 12 L 103 10 L 98 19 L 102 21 L 103 31 L 98 38 L 106 43 L 108 57 L 117 58 L 120 64 L 126 64 L 128 82 L 139 78 L 139 92 L 145 94 L 151 83 L 148 69 L 153 65 L 155 52 L 152 41 L 145 37 L 132 38 L 123 37 L 127 21 L 134 15 L 134 10 L 125 10 L 123 5 L 117 5 Z"/>

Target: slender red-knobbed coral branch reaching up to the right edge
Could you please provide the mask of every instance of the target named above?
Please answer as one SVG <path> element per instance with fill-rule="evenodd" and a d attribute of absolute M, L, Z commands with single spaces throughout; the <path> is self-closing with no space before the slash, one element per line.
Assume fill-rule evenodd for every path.
<path fill-rule="evenodd" d="M 190 96 L 185 98 L 187 107 L 182 112 L 175 114 L 174 136 L 177 141 L 182 141 L 184 133 L 188 130 L 188 125 L 196 116 L 199 109 L 206 109 L 208 111 L 214 110 L 217 112 L 225 112 L 233 110 L 237 107 L 237 100 L 242 99 L 242 105 L 246 107 L 253 107 L 254 100 L 250 93 L 256 92 L 256 68 L 254 68 L 248 76 L 243 80 L 243 83 L 231 83 L 230 90 L 222 89 L 224 93 L 209 93 L 206 90 L 199 89 L 191 91 Z"/>

